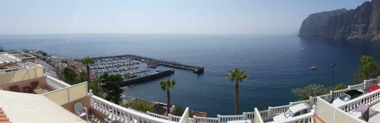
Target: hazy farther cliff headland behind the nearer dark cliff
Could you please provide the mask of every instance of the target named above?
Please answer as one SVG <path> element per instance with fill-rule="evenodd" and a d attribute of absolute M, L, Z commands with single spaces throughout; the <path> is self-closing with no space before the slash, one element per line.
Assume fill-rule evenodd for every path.
<path fill-rule="evenodd" d="M 346 9 L 337 9 L 334 11 L 324 11 L 319 13 L 310 14 L 301 25 L 298 36 L 300 37 L 318 37 L 322 27 L 332 15 L 339 15 L 345 12 Z"/>

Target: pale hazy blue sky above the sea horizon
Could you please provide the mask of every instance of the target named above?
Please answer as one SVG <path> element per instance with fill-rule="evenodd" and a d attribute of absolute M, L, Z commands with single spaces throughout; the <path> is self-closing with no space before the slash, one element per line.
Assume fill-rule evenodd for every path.
<path fill-rule="evenodd" d="M 2 0 L 0 35 L 293 34 L 365 0 Z"/>

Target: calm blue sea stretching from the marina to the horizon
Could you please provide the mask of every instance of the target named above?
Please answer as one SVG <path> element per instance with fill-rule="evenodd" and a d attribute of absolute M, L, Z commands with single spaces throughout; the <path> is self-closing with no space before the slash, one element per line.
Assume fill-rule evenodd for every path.
<path fill-rule="evenodd" d="M 234 114 L 234 83 L 223 77 L 228 70 L 245 69 L 240 83 L 240 112 L 255 107 L 282 106 L 296 101 L 292 88 L 331 85 L 331 61 L 336 83 L 354 85 L 361 55 L 380 61 L 380 43 L 357 40 L 299 38 L 296 35 L 190 35 L 190 34 L 75 34 L 0 35 L 5 50 L 41 49 L 72 58 L 134 54 L 188 65 L 204 66 L 203 74 L 174 68 L 167 76 L 178 81 L 171 89 L 174 105 L 207 112 L 207 117 Z M 304 49 L 301 49 L 306 47 Z M 310 70 L 313 65 L 318 68 Z M 143 68 L 141 64 L 140 68 Z M 169 67 L 159 66 L 157 69 Z M 154 72 L 154 71 L 150 71 Z M 149 74 L 149 73 L 147 73 Z M 166 77 L 163 77 L 166 78 Z M 124 88 L 123 98 L 166 102 L 158 86 L 162 78 Z"/>

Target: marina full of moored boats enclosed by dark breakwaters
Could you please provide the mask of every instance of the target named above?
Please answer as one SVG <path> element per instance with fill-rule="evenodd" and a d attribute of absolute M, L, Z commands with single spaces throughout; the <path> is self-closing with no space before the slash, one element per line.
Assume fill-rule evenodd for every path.
<path fill-rule="evenodd" d="M 79 62 L 81 59 L 75 59 Z M 93 58 L 94 64 L 90 69 L 97 74 L 121 75 L 124 80 L 123 86 L 133 85 L 150 79 L 163 77 L 174 73 L 174 69 L 161 71 L 157 66 L 164 65 L 172 68 L 192 70 L 195 73 L 203 72 L 203 67 L 183 65 L 173 61 L 164 61 L 154 58 L 141 57 L 137 55 L 117 55 L 110 57 Z M 151 69 L 154 68 L 154 72 Z"/>

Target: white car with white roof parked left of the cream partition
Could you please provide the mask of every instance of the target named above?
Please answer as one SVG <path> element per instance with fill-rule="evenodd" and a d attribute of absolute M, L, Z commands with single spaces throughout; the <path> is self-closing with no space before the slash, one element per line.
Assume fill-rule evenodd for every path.
<path fill-rule="evenodd" d="M 297 116 L 302 115 L 302 114 L 307 114 L 309 112 L 310 112 L 309 106 L 305 103 L 300 103 L 300 104 L 289 107 L 289 109 L 285 113 L 279 114 L 279 115 L 273 117 L 273 120 L 274 121 L 283 121 L 283 120 L 286 120 L 288 118 L 297 117 Z"/>

